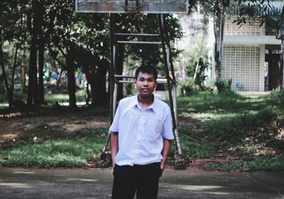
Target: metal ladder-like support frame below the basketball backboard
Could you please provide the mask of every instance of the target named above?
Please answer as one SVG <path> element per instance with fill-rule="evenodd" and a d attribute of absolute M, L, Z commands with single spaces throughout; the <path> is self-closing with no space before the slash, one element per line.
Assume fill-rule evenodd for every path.
<path fill-rule="evenodd" d="M 111 67 L 109 70 L 109 81 L 110 81 L 110 88 L 109 92 L 111 94 L 110 97 L 110 117 L 111 122 L 114 119 L 114 113 L 116 111 L 116 99 L 117 99 L 117 89 L 119 83 L 130 83 L 134 82 L 134 77 L 129 75 L 122 75 L 122 74 L 116 74 L 116 68 L 117 67 L 123 67 L 118 66 L 116 63 L 116 48 L 119 43 L 124 44 L 140 44 L 140 45 L 161 45 L 163 48 L 163 60 L 164 60 L 164 68 L 165 68 L 165 77 L 158 77 L 158 83 L 166 83 L 168 85 L 168 96 L 170 99 L 170 112 L 173 118 L 173 131 L 175 135 L 175 145 L 176 149 L 178 151 L 178 154 L 182 154 L 182 150 L 180 147 L 180 139 L 178 136 L 178 114 L 177 114 L 177 95 L 176 95 L 176 81 L 175 81 L 175 71 L 173 68 L 173 59 L 172 54 L 170 51 L 170 41 L 168 38 L 168 31 L 167 31 L 167 25 L 165 23 L 165 15 L 164 14 L 157 14 L 158 17 L 158 23 L 159 23 L 159 31 L 160 34 L 139 34 L 139 33 L 117 33 L 115 28 L 115 14 L 110 14 L 110 32 L 111 32 Z M 127 37 L 131 38 L 143 38 L 146 40 L 146 38 L 160 38 L 160 41 L 129 41 L 126 40 Z M 132 81 L 124 80 L 124 78 L 133 78 Z M 164 80 L 164 81 L 163 81 Z M 166 80 L 166 81 L 165 81 Z M 107 153 L 107 146 L 109 145 L 111 132 L 108 132 L 107 139 L 104 144 L 104 149 L 102 151 L 102 154 Z"/>

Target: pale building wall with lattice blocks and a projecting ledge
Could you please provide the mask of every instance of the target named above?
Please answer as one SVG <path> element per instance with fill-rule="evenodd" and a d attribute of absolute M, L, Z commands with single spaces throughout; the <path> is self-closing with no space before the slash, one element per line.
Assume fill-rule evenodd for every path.
<path fill-rule="evenodd" d="M 241 84 L 244 91 L 263 91 L 265 83 L 265 46 L 280 45 L 275 36 L 266 36 L 266 28 L 257 21 L 237 26 L 237 16 L 227 18 L 224 26 L 224 47 L 221 77 L 232 80 L 232 89 Z"/>

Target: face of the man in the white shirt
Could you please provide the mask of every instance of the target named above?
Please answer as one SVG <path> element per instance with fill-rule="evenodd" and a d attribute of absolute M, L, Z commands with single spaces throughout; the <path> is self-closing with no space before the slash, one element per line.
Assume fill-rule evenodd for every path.
<path fill-rule="evenodd" d="M 139 72 L 137 80 L 135 80 L 135 85 L 139 95 L 147 96 L 152 95 L 157 86 L 157 81 L 155 80 L 154 74 Z"/>

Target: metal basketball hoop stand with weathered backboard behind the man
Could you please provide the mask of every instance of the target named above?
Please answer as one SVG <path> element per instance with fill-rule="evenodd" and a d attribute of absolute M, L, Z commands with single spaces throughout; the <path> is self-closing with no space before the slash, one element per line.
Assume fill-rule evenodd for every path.
<path fill-rule="evenodd" d="M 167 25 L 164 14 L 187 14 L 188 0 L 75 0 L 76 11 L 81 13 L 109 13 L 110 14 L 110 43 L 111 43 L 111 64 L 109 70 L 109 92 L 110 92 L 110 120 L 114 119 L 116 111 L 117 89 L 119 84 L 134 82 L 134 77 L 122 74 L 116 74 L 116 47 L 119 43 L 127 45 L 161 45 L 163 48 L 163 60 L 165 68 L 165 77 L 158 77 L 158 83 L 168 85 L 168 96 L 170 99 L 170 112 L 173 118 L 173 131 L 175 135 L 175 144 L 178 155 L 182 155 L 180 139 L 178 136 L 178 114 L 177 114 L 177 95 L 175 71 L 173 68 L 173 59 L 170 51 L 170 40 L 168 37 Z M 139 34 L 139 33 L 117 33 L 115 28 L 115 14 L 120 13 L 138 13 L 138 14 L 156 14 L 158 17 L 159 34 Z M 143 38 L 143 41 L 129 41 L 131 38 Z M 160 41 L 146 41 L 146 38 L 160 38 Z M 123 69 L 123 65 L 121 66 Z M 130 78 L 133 80 L 125 80 Z M 107 139 L 102 150 L 101 158 L 107 157 L 111 132 L 108 132 Z"/>

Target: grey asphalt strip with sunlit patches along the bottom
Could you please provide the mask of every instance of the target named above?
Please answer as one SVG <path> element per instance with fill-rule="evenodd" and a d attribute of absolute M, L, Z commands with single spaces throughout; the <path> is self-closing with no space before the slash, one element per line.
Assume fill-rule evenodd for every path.
<path fill-rule="evenodd" d="M 109 168 L 0 168 L 1 199 L 111 198 L 111 185 Z M 158 198 L 284 199 L 284 172 L 224 173 L 167 168 L 160 178 Z"/>

